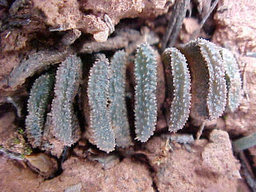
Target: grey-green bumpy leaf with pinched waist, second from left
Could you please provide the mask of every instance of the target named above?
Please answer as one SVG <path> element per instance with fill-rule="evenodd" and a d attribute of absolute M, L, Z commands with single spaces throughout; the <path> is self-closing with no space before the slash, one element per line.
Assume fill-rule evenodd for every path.
<path fill-rule="evenodd" d="M 63 145 L 70 146 L 80 138 L 80 128 L 74 114 L 73 101 L 79 87 L 82 62 L 70 55 L 56 74 L 55 97 L 52 100 L 52 131 Z"/>

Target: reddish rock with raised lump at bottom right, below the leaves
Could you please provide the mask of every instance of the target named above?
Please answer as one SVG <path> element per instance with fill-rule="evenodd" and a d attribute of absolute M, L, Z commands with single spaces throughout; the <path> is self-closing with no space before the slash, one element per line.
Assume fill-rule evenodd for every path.
<path fill-rule="evenodd" d="M 236 191 L 239 163 L 232 154 L 227 132 L 214 130 L 211 141 L 197 140 L 191 150 L 175 145 L 166 150 L 166 141 L 148 141 L 148 158 L 159 191 Z M 161 146 L 161 148 L 157 147 Z M 157 156 L 158 154 L 158 156 Z"/>

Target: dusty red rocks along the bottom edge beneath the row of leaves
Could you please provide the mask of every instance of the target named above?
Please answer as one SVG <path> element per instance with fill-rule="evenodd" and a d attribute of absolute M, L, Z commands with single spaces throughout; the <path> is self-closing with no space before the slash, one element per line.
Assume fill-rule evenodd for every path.
<path fill-rule="evenodd" d="M 239 163 L 227 132 L 214 130 L 209 143 L 198 140 L 189 151 L 176 143 L 172 152 L 165 148 L 163 154 L 165 144 L 166 140 L 155 137 L 146 145 L 153 177 L 147 164 L 131 158 L 104 170 L 97 161 L 70 157 L 60 176 L 44 180 L 22 164 L 1 157 L 7 167 L 0 169 L 1 191 L 63 191 L 77 184 L 81 191 L 155 191 L 153 180 L 159 191 L 236 191 Z M 16 182 L 7 182 L 14 175 L 18 175 Z"/>

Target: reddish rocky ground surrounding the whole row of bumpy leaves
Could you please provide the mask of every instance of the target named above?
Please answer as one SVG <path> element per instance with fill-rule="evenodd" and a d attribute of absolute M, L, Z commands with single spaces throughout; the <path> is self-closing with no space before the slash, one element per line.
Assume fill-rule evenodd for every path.
<path fill-rule="evenodd" d="M 256 131 L 256 57 L 253 56 L 256 52 L 256 2 L 249 0 L 220 0 L 204 28 L 196 34 L 232 51 L 243 80 L 239 108 L 206 125 L 200 140 L 185 145 L 170 140 L 164 136 L 163 114 L 158 114 L 157 133 L 150 140 L 142 144 L 134 141 L 134 146 L 118 148 L 108 155 L 88 143 L 86 136 L 68 149 L 63 163 L 63 148 L 61 152 L 56 149 L 52 156 L 28 145 L 24 115 L 29 81 L 34 81 L 35 77 L 29 77 L 24 86 L 15 91 L 4 87 L 6 76 L 21 60 L 50 47 L 64 49 L 72 38 L 76 42 L 67 44 L 74 43 L 82 58 L 101 49 L 106 54 L 124 48 L 133 52 L 134 45 L 140 43 L 138 40 L 147 40 L 148 36 L 156 49 L 161 46 L 156 42 L 161 42 L 166 31 L 172 1 L 95 2 L 0 1 L 0 191 L 252 191 L 246 183 L 246 174 L 241 171 L 239 158 L 232 150 L 233 140 Z M 209 1 L 200 2 L 191 1 L 191 17 L 187 13 L 177 44 L 195 36 L 199 20 L 209 10 Z M 140 29 L 140 33 L 123 33 L 125 27 Z M 109 36 L 114 28 L 114 35 Z M 70 29 L 82 33 L 68 36 L 63 32 Z M 154 31 L 154 35 L 150 35 L 150 31 Z M 68 38 L 63 42 L 65 35 Z M 113 43 L 111 48 L 104 44 L 108 38 Z M 95 41 L 102 42 L 100 48 L 93 43 Z M 88 48 L 89 45 L 92 47 Z M 161 73 L 158 76 L 161 77 Z M 164 79 L 159 79 L 161 87 Z M 158 93 L 161 102 L 163 95 L 164 92 Z M 195 136 L 198 131 L 195 125 L 189 120 L 180 134 Z M 252 147 L 244 152 L 251 175 L 256 168 L 255 151 L 256 147 Z"/>

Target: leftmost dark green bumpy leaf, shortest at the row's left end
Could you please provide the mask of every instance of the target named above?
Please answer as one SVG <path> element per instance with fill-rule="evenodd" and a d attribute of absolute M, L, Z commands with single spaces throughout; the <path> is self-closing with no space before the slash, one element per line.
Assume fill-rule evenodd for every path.
<path fill-rule="evenodd" d="M 30 91 L 26 134 L 29 143 L 34 148 L 42 143 L 47 106 L 51 102 L 51 92 L 54 88 L 54 76 L 55 74 L 51 72 L 38 77 Z"/>

